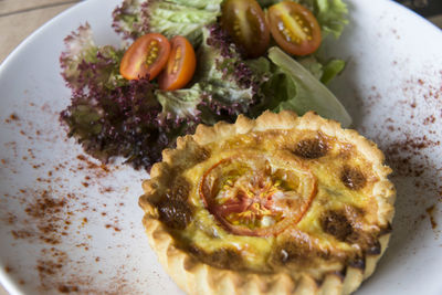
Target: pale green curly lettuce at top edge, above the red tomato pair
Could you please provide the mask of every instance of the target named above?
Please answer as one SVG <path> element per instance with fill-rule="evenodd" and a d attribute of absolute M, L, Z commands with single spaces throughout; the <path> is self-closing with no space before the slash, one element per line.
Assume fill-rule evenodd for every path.
<path fill-rule="evenodd" d="M 222 0 L 125 0 L 115 9 L 113 28 L 126 38 L 136 39 L 148 32 L 167 38 L 186 36 L 193 45 L 201 42 L 202 28 L 214 23 Z"/>

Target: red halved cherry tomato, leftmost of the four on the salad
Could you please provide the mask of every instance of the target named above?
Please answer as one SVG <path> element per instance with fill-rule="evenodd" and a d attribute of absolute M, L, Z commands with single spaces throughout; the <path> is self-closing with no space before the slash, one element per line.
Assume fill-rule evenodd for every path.
<path fill-rule="evenodd" d="M 119 73 L 127 80 L 149 76 L 154 80 L 165 67 L 170 54 L 170 43 L 157 33 L 141 35 L 125 52 Z"/>

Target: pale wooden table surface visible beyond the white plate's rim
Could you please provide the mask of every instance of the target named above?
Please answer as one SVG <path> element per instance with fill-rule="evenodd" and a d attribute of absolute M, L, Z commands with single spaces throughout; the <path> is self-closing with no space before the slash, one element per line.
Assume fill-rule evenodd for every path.
<path fill-rule="evenodd" d="M 80 1 L 0 0 L 0 63 L 33 31 Z M 442 28 L 442 15 L 429 20 Z M 8 295 L 1 286 L 0 295 Z"/>

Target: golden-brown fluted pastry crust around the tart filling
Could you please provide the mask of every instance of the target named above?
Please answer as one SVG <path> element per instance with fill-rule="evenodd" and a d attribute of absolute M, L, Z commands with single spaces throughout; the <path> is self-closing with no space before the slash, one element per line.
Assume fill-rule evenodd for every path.
<path fill-rule="evenodd" d="M 178 138 L 176 149 L 162 152 L 164 160 L 152 167 L 150 179 L 143 183 L 145 194 L 139 199 L 139 206 L 145 211 L 143 223 L 150 246 L 169 275 L 188 294 L 350 294 L 372 274 L 377 261 L 387 249 L 390 233 L 383 231 L 378 234 L 379 243 L 371 253 L 366 251 L 365 256 L 359 257 L 360 261 L 348 263 L 340 272 L 324 273 L 318 280 L 302 272 L 293 274 L 286 271 L 257 273 L 250 270 L 222 270 L 201 262 L 177 245 L 170 229 L 160 221 L 160 212 L 155 206 L 166 193 L 169 176 L 204 161 L 210 157 L 210 150 L 204 147 L 210 144 L 222 143 L 236 135 L 274 129 L 315 131 L 357 147 L 359 155 L 369 159 L 371 172 L 377 179 L 371 193 L 378 210 L 371 218 L 382 229 L 389 228 L 394 213 L 396 197 L 394 188 L 387 179 L 391 169 L 383 165 L 383 155 L 377 146 L 357 131 L 343 129 L 338 123 L 314 113 L 298 117 L 292 112 L 265 112 L 255 120 L 239 116 L 235 124 L 218 123 L 213 127 L 200 125 L 193 136 Z M 189 150 L 197 149 L 200 156 L 189 158 Z"/>

